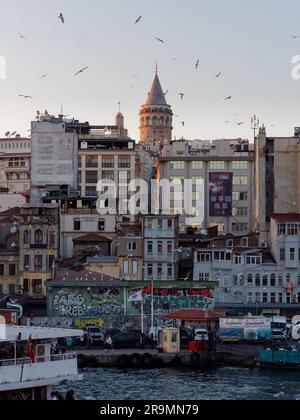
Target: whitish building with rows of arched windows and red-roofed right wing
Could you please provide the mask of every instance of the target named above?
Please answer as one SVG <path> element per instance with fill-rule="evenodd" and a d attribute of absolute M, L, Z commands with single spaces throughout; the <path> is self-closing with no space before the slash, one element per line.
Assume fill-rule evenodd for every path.
<path fill-rule="evenodd" d="M 203 241 L 194 255 L 194 280 L 218 281 L 216 305 L 241 312 L 298 313 L 300 216 L 271 218 L 271 248 L 259 235 Z"/>

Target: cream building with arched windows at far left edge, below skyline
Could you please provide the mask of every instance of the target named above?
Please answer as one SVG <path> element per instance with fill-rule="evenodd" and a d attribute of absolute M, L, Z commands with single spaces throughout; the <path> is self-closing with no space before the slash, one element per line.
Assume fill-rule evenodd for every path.
<path fill-rule="evenodd" d="M 24 194 L 30 190 L 31 140 L 0 139 L 0 190 Z"/>

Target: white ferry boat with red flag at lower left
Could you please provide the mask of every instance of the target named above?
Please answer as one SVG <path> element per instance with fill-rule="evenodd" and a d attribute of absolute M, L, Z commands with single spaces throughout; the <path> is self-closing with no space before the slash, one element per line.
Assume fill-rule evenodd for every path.
<path fill-rule="evenodd" d="M 0 401 L 48 400 L 54 386 L 82 380 L 77 355 L 55 351 L 59 339 L 82 335 L 78 330 L 6 326 L 0 336 Z"/>

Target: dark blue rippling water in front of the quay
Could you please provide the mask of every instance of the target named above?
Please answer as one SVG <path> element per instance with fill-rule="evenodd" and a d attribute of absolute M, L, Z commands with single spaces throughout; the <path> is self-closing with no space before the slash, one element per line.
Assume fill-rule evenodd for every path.
<path fill-rule="evenodd" d="M 300 400 L 300 372 L 218 368 L 85 369 L 82 382 L 62 385 L 82 400 Z"/>

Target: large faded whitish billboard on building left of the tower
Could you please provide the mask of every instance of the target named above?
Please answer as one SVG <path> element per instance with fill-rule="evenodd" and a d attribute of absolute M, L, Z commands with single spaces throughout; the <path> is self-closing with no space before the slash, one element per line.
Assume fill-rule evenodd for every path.
<path fill-rule="evenodd" d="M 33 133 L 31 140 L 31 183 L 77 184 L 77 137 L 73 133 Z"/>

